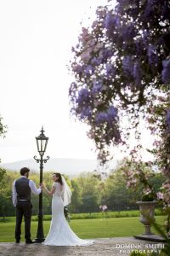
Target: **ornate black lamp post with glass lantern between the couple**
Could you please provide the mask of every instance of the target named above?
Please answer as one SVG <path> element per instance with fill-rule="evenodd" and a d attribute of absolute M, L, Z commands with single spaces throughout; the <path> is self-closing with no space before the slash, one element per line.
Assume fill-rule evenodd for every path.
<path fill-rule="evenodd" d="M 47 163 L 47 160 L 49 159 L 49 156 L 47 156 L 46 159 L 43 159 L 43 154 L 45 153 L 45 150 L 48 145 L 48 137 L 45 137 L 43 133 L 43 127 L 41 130 L 41 133 L 38 137 L 36 137 L 37 140 L 37 151 L 40 154 L 40 159 L 37 159 L 37 156 L 34 156 L 34 159 L 37 160 L 37 163 L 40 163 L 40 183 L 42 183 L 42 170 L 43 170 L 43 162 Z M 37 214 L 38 217 L 38 226 L 37 226 L 37 238 L 35 239 L 35 242 L 42 242 L 44 241 L 44 235 L 43 235 L 43 212 L 42 212 L 42 193 L 39 195 L 39 211 Z"/>

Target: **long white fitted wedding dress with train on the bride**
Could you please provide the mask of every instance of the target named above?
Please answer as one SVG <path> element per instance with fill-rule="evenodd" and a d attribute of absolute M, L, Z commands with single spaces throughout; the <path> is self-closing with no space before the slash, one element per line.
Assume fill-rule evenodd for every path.
<path fill-rule="evenodd" d="M 62 199 L 62 186 L 54 183 L 55 191 L 52 199 L 52 220 L 48 236 L 43 245 L 49 246 L 86 246 L 93 241 L 80 239 L 70 228 L 64 214 L 64 202 Z"/>

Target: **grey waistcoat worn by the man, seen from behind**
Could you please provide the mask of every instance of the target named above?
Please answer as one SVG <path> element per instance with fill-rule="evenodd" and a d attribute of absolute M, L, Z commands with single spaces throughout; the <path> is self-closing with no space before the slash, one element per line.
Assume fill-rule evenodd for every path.
<path fill-rule="evenodd" d="M 29 179 L 20 177 L 15 181 L 17 200 L 31 201 L 31 189 L 29 187 Z"/>

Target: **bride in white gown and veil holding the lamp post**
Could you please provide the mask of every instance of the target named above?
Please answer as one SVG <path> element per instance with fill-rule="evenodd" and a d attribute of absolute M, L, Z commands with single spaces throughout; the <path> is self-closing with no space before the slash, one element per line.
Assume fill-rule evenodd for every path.
<path fill-rule="evenodd" d="M 80 239 L 70 228 L 65 219 L 64 207 L 71 203 L 71 189 L 65 182 L 65 178 L 60 173 L 53 174 L 53 186 L 51 191 L 42 184 L 48 195 L 53 195 L 52 199 L 52 220 L 48 236 L 43 245 L 50 246 L 85 246 L 93 241 Z"/>

